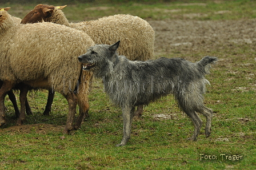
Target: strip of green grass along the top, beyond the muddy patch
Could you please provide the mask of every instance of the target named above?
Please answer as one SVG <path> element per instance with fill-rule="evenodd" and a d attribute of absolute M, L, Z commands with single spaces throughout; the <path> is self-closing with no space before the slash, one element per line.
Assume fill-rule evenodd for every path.
<path fill-rule="evenodd" d="M 33 1 L 32 1 L 33 2 Z M 49 5 L 68 5 L 63 11 L 66 17 L 73 22 L 95 19 L 105 15 L 132 14 L 143 19 L 241 19 L 255 18 L 254 1 L 173 1 L 157 3 L 155 1 L 93 1 L 89 2 L 69 2 L 69 1 L 44 1 L 40 2 Z M 2 7 L 10 6 L 10 14 L 23 18 L 33 9 L 37 3 L 16 4 L 12 1 L 1 3 Z"/>

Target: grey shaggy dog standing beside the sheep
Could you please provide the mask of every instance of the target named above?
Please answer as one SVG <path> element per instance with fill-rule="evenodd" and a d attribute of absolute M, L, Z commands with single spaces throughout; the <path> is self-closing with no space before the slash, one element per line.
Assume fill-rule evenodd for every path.
<path fill-rule="evenodd" d="M 194 123 L 194 133 L 190 140 L 197 140 L 202 120 L 197 112 L 206 117 L 205 135 L 210 136 L 213 111 L 203 104 L 205 79 L 210 64 L 216 57 L 205 56 L 197 63 L 182 58 L 159 58 L 137 62 L 118 55 L 119 42 L 107 45 L 97 44 L 90 47 L 86 54 L 78 57 L 83 70 L 92 70 L 94 75 L 103 79 L 109 98 L 122 109 L 123 139 L 117 146 L 123 146 L 130 139 L 134 107 L 149 104 L 173 94 L 181 108 Z"/>

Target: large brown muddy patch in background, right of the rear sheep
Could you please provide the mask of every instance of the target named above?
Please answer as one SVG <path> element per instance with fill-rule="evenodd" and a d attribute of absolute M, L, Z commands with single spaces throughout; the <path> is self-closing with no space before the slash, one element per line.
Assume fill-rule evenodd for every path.
<path fill-rule="evenodd" d="M 220 13 L 228 13 L 221 11 Z M 155 54 L 213 55 L 214 51 L 233 51 L 240 45 L 255 50 L 256 19 L 238 21 L 148 21 L 155 30 Z M 231 53 L 232 54 L 232 53 Z M 254 56 L 255 57 L 255 56 Z M 254 58 L 253 57 L 253 58 Z M 225 56 L 219 56 L 225 58 Z M 255 63 L 253 63 L 255 64 Z"/>

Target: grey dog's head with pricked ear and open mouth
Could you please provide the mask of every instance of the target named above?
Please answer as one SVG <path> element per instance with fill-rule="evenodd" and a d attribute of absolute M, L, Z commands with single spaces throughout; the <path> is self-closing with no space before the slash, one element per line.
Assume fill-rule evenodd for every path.
<path fill-rule="evenodd" d="M 117 48 L 120 41 L 107 45 L 96 44 L 90 47 L 83 55 L 78 56 L 79 62 L 83 63 L 83 70 L 106 71 L 113 68 L 114 62 L 117 60 Z"/>

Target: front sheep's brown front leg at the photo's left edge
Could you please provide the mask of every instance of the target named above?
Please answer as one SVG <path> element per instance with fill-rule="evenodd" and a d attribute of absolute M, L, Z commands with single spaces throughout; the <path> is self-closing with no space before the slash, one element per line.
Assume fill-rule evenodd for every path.
<path fill-rule="evenodd" d="M 8 91 L 13 88 L 14 83 L 9 81 L 3 81 L 3 85 L 0 88 L 0 126 L 5 124 L 5 96 Z"/>

